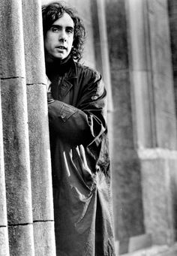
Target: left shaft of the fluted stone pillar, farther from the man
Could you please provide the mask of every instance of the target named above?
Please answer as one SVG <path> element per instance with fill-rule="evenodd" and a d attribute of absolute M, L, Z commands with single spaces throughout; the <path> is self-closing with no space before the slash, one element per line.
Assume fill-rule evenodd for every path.
<path fill-rule="evenodd" d="M 0 62 L 11 255 L 34 256 L 22 2 L 2 0 Z"/>

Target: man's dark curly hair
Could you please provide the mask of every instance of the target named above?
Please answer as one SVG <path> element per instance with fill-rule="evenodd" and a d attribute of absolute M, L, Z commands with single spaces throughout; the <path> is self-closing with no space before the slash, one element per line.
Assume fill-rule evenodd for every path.
<path fill-rule="evenodd" d="M 52 2 L 49 5 L 42 6 L 43 15 L 43 37 L 46 37 L 46 32 L 50 29 L 55 20 L 58 20 L 64 13 L 70 15 L 74 21 L 74 42 L 71 49 L 71 56 L 78 62 L 83 56 L 83 44 L 86 39 L 86 29 L 83 26 L 80 17 L 77 17 L 76 12 L 68 8 L 60 2 Z"/>

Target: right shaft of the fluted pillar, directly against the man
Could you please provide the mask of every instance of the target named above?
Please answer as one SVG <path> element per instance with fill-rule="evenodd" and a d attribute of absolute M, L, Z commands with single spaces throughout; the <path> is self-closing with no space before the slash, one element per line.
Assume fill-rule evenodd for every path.
<path fill-rule="evenodd" d="M 28 129 L 36 256 L 55 255 L 52 173 L 46 101 L 41 3 L 23 1 Z"/>

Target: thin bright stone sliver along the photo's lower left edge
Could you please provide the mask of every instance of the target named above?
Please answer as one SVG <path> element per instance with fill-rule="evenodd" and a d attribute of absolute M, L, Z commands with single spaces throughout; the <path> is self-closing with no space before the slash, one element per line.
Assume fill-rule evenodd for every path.
<path fill-rule="evenodd" d="M 1 119 L 1 95 L 0 95 L 0 255 L 9 255 L 7 235 L 7 206 L 5 191 L 5 163 L 3 149 L 2 119 Z"/>

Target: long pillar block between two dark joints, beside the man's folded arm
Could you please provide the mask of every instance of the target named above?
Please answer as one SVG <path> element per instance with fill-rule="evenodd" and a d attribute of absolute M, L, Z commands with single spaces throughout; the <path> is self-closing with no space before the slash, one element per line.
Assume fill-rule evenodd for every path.
<path fill-rule="evenodd" d="M 33 219 L 53 220 L 46 86 L 27 86 L 27 95 Z"/>

